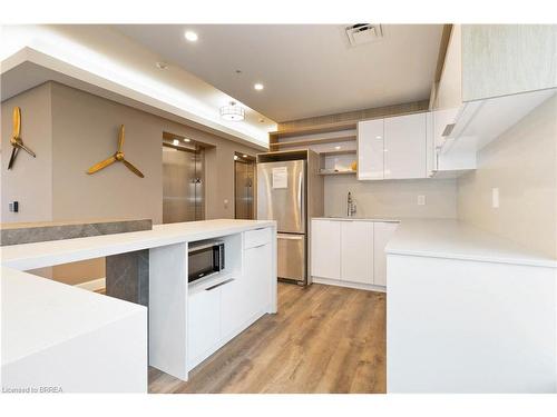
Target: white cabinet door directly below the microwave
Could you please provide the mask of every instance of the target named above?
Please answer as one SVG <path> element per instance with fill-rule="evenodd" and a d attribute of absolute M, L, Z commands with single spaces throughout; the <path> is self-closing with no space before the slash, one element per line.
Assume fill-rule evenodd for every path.
<path fill-rule="evenodd" d="M 193 367 L 211 355 L 221 338 L 221 287 L 198 289 L 187 305 L 187 361 Z"/>

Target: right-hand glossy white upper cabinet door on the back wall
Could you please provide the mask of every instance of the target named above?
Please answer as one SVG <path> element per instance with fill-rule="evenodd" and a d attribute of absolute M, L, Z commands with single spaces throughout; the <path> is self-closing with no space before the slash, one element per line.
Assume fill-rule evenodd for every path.
<path fill-rule="evenodd" d="M 427 178 L 427 115 L 384 119 L 384 179 Z"/>

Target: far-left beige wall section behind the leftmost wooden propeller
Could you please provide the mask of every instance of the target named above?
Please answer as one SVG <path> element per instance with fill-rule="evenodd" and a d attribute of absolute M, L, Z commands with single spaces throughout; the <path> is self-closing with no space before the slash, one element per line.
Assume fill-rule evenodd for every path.
<path fill-rule="evenodd" d="M 21 108 L 21 137 L 36 155 L 19 151 L 8 170 L 12 147 L 12 111 Z M 52 126 L 50 85 L 42 85 L 2 102 L 1 196 L 2 222 L 52 220 Z M 19 212 L 8 202 L 19 201 Z"/>

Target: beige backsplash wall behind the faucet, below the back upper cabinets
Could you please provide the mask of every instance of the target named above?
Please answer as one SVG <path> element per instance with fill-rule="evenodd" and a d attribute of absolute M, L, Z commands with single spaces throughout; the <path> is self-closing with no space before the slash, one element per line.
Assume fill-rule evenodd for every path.
<path fill-rule="evenodd" d="M 455 218 L 457 187 L 455 179 L 417 179 L 358 181 L 352 176 L 325 177 L 325 216 L 346 214 L 346 195 L 351 191 L 358 216 Z M 426 205 L 418 206 L 418 196 Z"/>

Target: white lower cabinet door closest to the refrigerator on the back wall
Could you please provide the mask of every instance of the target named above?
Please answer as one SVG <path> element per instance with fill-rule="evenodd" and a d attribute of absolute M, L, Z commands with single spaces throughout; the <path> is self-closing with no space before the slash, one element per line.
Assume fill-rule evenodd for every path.
<path fill-rule="evenodd" d="M 334 220 L 312 221 L 312 276 L 341 279 L 341 226 Z"/>

